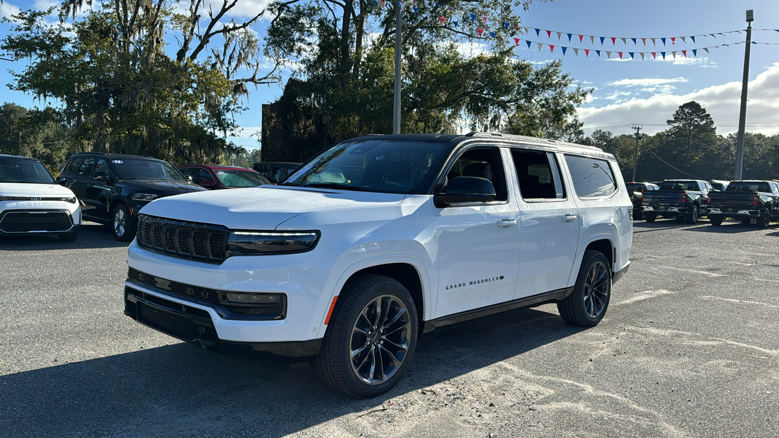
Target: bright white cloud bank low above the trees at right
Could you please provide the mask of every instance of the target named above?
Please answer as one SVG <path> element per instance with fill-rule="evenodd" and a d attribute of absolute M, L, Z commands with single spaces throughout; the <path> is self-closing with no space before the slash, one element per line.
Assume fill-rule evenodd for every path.
<path fill-rule="evenodd" d="M 663 85 L 674 82 L 685 82 L 684 78 L 659 79 Z M 674 80 L 684 79 L 684 80 Z M 651 79 L 622 79 L 615 81 L 623 86 L 647 86 Z M 664 81 L 664 82 L 663 82 Z M 714 118 L 715 124 L 738 124 L 738 108 L 741 98 L 741 82 L 734 81 L 696 90 L 688 94 L 655 94 L 652 97 L 631 99 L 621 103 L 608 104 L 603 107 L 579 108 L 578 113 L 584 128 L 597 126 L 615 126 L 639 124 L 659 124 L 660 126 L 645 126 L 645 132 L 652 134 L 664 130 L 664 123 L 671 118 L 679 105 L 696 101 L 706 108 Z M 779 124 L 779 62 L 770 65 L 755 79 L 749 82 L 749 104 L 746 112 L 747 131 L 764 134 L 779 133 L 779 126 L 750 126 L 757 123 Z M 736 126 L 722 126 L 717 132 L 725 134 L 735 132 Z M 587 131 L 591 132 L 591 131 Z M 619 132 L 619 130 L 615 130 Z"/>

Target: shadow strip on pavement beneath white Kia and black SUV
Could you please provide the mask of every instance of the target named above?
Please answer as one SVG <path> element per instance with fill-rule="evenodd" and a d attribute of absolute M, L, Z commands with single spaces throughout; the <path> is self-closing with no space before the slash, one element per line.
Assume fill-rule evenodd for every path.
<path fill-rule="evenodd" d="M 76 242 L 62 242 L 58 235 L 5 235 L 0 251 L 42 251 L 46 249 L 118 248 L 130 242 L 118 242 L 108 225 L 84 222 Z"/>

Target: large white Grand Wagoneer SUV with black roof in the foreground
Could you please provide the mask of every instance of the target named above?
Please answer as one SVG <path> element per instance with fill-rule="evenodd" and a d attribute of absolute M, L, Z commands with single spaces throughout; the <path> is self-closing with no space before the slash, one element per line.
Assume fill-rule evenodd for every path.
<path fill-rule="evenodd" d="M 632 207 L 594 147 L 361 137 L 280 185 L 143 207 L 125 313 L 203 348 L 314 360 L 336 390 L 372 397 L 453 323 L 550 302 L 600 322 L 629 267 Z"/>

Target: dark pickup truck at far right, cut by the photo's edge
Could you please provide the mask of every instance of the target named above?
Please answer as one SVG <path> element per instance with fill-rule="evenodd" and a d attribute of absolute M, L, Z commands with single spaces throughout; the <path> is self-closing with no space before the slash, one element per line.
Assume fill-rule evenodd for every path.
<path fill-rule="evenodd" d="M 779 183 L 774 181 L 734 181 L 723 192 L 709 193 L 709 220 L 714 226 L 731 217 L 742 224 L 753 220 L 766 228 L 779 221 Z"/>

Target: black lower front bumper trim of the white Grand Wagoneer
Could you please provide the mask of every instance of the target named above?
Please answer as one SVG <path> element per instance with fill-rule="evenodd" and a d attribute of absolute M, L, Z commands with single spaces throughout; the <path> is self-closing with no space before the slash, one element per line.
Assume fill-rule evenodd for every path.
<path fill-rule="evenodd" d="M 310 362 L 319 354 L 322 338 L 308 341 L 241 342 L 226 341 L 217 333 L 218 321 L 193 303 L 181 304 L 171 297 L 143 291 L 125 284 L 125 315 L 164 334 L 203 348 L 277 365 Z"/>

